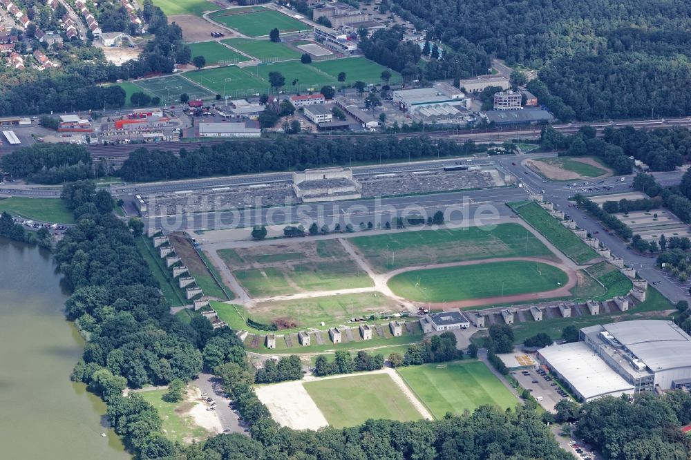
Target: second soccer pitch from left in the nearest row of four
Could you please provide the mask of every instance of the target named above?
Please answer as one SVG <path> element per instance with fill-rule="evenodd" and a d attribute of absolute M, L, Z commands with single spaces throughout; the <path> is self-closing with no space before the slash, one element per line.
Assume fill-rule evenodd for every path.
<path fill-rule="evenodd" d="M 210 68 L 207 70 L 196 70 L 187 72 L 185 77 L 191 79 L 216 94 L 231 97 L 245 97 L 256 93 L 266 93 L 270 86 L 268 82 L 263 82 L 254 75 L 245 72 L 236 66 L 220 68 Z"/>

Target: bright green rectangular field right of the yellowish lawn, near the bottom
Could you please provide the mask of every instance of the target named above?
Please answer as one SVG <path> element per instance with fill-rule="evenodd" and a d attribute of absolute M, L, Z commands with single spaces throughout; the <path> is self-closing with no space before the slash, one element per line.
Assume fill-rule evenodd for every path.
<path fill-rule="evenodd" d="M 426 405 L 433 416 L 441 419 L 446 412 L 462 415 L 483 404 L 502 409 L 513 408 L 518 399 L 480 361 L 399 367 L 398 373 Z"/>

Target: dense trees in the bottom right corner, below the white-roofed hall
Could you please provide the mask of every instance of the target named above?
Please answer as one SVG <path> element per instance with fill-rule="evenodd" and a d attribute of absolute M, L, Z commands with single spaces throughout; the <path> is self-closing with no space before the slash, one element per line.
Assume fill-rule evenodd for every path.
<path fill-rule="evenodd" d="M 580 407 L 576 434 L 612 460 L 685 460 L 691 439 L 680 428 L 691 422 L 691 395 L 641 392 L 605 396 Z"/>

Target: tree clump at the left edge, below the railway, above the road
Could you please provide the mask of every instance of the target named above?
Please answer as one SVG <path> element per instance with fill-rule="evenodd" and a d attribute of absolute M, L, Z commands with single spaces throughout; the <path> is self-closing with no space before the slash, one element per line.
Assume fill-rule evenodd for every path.
<path fill-rule="evenodd" d="M 91 153 L 74 144 L 35 144 L 0 159 L 3 171 L 37 184 L 61 184 L 93 177 Z M 100 172 L 102 173 L 102 171 Z"/>

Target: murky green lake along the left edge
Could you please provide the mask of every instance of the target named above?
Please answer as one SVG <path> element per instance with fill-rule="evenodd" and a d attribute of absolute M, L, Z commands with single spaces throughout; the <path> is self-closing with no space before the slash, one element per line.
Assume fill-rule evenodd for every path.
<path fill-rule="evenodd" d="M 129 459 L 106 405 L 70 381 L 84 341 L 60 279 L 50 252 L 0 238 L 0 458 Z"/>

